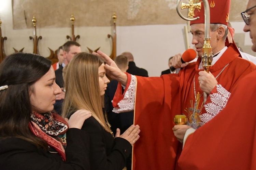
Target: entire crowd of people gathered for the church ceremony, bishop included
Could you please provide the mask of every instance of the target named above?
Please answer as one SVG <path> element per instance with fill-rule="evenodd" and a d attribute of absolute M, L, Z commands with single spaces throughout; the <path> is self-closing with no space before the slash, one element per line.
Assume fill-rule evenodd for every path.
<path fill-rule="evenodd" d="M 168 66 L 177 71 L 160 77 L 148 77 L 130 52 L 113 61 L 74 41 L 58 48 L 53 65 L 31 53 L 7 56 L 0 64 L 1 169 L 256 169 L 256 60 L 234 43 L 230 0 L 214 3 L 209 73 L 201 63 L 203 3 L 190 21 L 197 61 L 174 55 Z M 248 0 L 241 15 L 256 52 L 255 12 Z M 175 125 L 176 114 L 187 124 Z"/>

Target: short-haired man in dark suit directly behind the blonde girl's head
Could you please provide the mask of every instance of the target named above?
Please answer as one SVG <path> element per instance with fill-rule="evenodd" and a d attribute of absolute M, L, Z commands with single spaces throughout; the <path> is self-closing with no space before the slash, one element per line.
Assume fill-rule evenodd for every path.
<path fill-rule="evenodd" d="M 60 88 L 63 88 L 64 81 L 62 76 L 62 69 L 70 62 L 70 60 L 76 55 L 77 53 L 81 52 L 80 44 L 75 41 L 68 41 L 62 46 L 63 48 L 63 63 L 62 67 L 56 69 L 55 76 L 56 76 L 56 84 Z"/>

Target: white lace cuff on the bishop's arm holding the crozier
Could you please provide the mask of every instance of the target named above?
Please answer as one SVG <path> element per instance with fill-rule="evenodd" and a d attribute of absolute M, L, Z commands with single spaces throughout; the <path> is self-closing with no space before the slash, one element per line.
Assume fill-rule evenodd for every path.
<path fill-rule="evenodd" d="M 230 94 L 221 84 L 217 84 L 217 93 L 210 94 L 211 103 L 204 105 L 207 113 L 200 115 L 203 124 L 209 122 L 214 118 L 220 111 L 224 109 L 228 102 Z"/>

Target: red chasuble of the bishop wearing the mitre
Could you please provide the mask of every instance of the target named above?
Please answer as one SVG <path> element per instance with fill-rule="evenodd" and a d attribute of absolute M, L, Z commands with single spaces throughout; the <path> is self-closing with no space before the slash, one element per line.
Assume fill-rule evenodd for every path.
<path fill-rule="evenodd" d="M 189 108 L 194 108 L 195 104 L 194 76 L 196 93 L 199 92 L 200 95 L 203 93 L 198 82 L 198 73 L 202 71 L 198 69 L 200 63 L 201 58 L 181 69 L 179 74 L 161 77 L 136 76 L 134 124 L 140 126 L 141 132 L 140 139 L 133 145 L 133 170 L 175 169 L 176 158 L 180 154 L 178 149 L 181 152 L 182 144 L 179 144 L 173 134 L 172 128 L 175 125 L 173 118 L 176 114 L 185 114 L 191 118 L 193 114 Z M 216 79 L 232 93 L 234 84 L 252 72 L 255 67 L 253 63 L 240 58 L 231 44 L 222 57 L 210 67 L 210 72 L 216 77 L 223 70 Z M 212 93 L 215 92 L 214 90 L 216 88 Z M 122 90 L 117 90 L 115 95 L 115 98 L 119 98 Z M 117 102 L 113 101 L 113 104 Z M 205 113 L 202 103 L 203 95 L 197 105 L 200 111 L 195 116 L 198 126 L 200 126 L 199 115 Z"/>

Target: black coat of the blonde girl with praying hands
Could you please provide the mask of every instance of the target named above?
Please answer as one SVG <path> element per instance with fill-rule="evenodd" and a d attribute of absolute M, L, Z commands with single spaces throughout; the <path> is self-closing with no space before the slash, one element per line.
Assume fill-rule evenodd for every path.
<path fill-rule="evenodd" d="M 122 170 L 131 151 L 131 144 L 123 138 L 113 139 L 100 123 L 90 117 L 82 127 L 90 136 L 90 169 Z"/>

